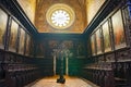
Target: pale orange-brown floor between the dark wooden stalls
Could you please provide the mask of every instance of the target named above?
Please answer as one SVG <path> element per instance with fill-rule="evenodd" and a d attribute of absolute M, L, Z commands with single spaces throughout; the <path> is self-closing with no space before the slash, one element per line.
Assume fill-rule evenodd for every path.
<path fill-rule="evenodd" d="M 70 77 L 70 76 L 64 76 L 64 77 L 66 77 L 64 84 L 56 83 L 57 78 L 59 77 L 52 76 L 52 77 L 45 77 L 25 87 L 97 87 L 88 80 L 85 82 L 84 79 L 78 77 Z"/>

